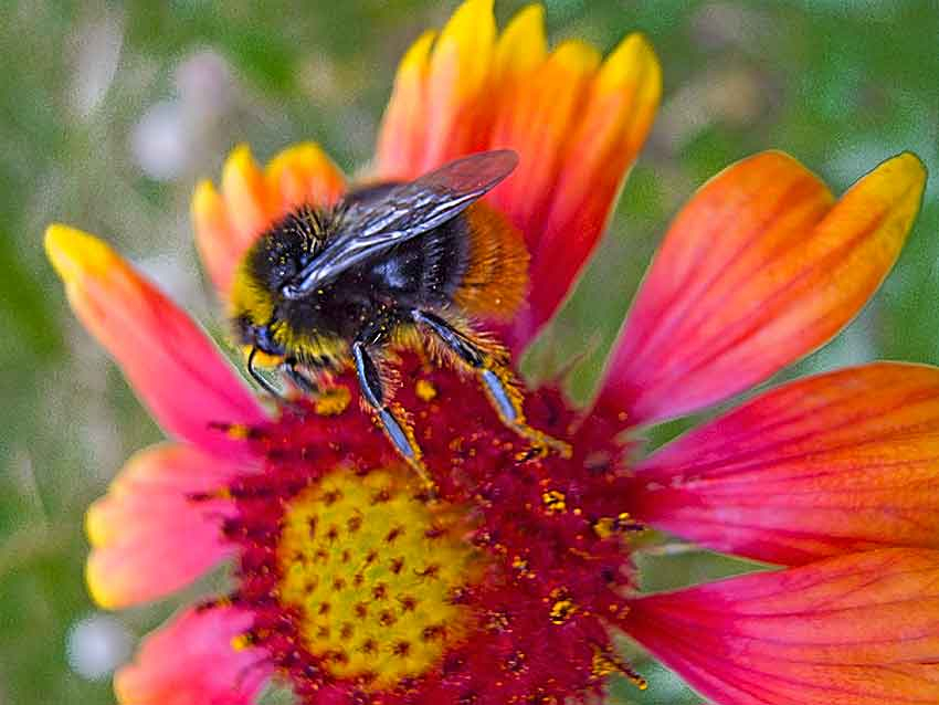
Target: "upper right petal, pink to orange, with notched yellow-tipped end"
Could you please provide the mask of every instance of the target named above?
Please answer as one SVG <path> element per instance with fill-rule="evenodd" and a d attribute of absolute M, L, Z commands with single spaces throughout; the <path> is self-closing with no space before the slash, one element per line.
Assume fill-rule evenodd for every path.
<path fill-rule="evenodd" d="M 791 157 L 725 169 L 678 214 L 611 357 L 599 406 L 632 423 L 757 385 L 845 326 L 893 266 L 926 180 L 889 159 L 834 206 Z"/>

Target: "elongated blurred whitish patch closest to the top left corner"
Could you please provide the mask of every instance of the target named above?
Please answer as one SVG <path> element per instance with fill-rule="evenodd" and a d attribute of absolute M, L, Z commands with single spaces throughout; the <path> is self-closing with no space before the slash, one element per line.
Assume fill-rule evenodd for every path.
<path fill-rule="evenodd" d="M 83 119 L 94 113 L 110 87 L 123 45 L 124 18 L 115 13 L 87 22 L 73 34 L 75 72 L 70 102 Z"/>

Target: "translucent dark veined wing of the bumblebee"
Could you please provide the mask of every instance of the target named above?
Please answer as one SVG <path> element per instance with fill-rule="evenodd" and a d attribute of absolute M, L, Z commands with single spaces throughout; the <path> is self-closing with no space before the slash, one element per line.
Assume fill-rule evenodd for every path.
<path fill-rule="evenodd" d="M 458 215 L 518 164 L 509 149 L 483 151 L 408 183 L 350 201 L 338 231 L 281 293 L 299 298 L 342 271 Z"/>

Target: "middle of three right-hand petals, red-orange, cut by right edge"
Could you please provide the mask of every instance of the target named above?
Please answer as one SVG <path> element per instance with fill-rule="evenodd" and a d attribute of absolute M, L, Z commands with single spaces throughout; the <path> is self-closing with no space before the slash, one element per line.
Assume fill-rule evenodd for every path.
<path fill-rule="evenodd" d="M 939 369 L 883 362 L 784 385 L 636 469 L 630 512 L 778 564 L 939 548 Z"/>

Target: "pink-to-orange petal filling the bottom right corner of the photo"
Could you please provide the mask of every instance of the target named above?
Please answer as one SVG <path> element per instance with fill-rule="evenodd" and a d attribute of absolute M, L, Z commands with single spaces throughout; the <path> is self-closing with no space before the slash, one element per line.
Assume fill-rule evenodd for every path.
<path fill-rule="evenodd" d="M 854 554 L 640 598 L 622 625 L 719 705 L 939 702 L 939 551 Z"/>

